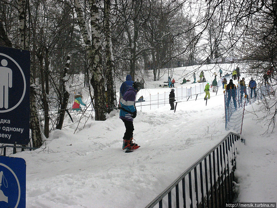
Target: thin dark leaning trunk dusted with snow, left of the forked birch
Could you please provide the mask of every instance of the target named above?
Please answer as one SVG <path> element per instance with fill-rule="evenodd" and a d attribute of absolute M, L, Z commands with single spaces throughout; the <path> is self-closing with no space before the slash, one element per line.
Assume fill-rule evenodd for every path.
<path fill-rule="evenodd" d="M 66 108 L 67 108 L 67 103 L 68 103 L 68 98 L 69 98 L 69 89 L 66 85 L 67 83 L 67 71 L 69 69 L 69 63 L 70 63 L 70 54 L 67 55 L 66 57 L 66 66 L 64 67 L 63 70 L 63 78 L 62 78 L 62 100 L 60 101 L 60 107 L 61 109 L 58 111 L 59 115 L 58 115 L 58 124 L 56 129 L 62 129 L 62 124 L 63 124 L 63 120 L 64 120 L 64 114 L 66 112 Z"/>

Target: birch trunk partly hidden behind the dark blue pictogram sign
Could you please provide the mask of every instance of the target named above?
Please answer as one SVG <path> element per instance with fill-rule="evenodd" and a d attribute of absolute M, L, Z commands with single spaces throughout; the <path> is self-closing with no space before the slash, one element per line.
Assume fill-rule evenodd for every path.
<path fill-rule="evenodd" d="M 29 41 L 27 38 L 27 27 L 26 27 L 26 13 L 24 11 L 24 6 L 26 6 L 25 0 L 18 0 L 18 26 L 19 33 L 21 36 L 21 45 L 24 50 L 29 48 Z M 42 136 L 40 130 L 40 122 L 37 113 L 36 104 L 36 92 L 34 85 L 34 69 L 30 69 L 30 129 L 32 132 L 32 142 L 33 147 L 40 147 L 42 145 Z"/>

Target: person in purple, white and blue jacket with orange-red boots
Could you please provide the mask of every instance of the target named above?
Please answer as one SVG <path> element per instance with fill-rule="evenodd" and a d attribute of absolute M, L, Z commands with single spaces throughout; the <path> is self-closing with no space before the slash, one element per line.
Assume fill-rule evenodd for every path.
<path fill-rule="evenodd" d="M 134 124 L 133 120 L 137 116 L 137 110 L 134 106 L 134 102 L 136 100 L 136 94 L 142 88 L 142 84 L 140 82 L 135 81 L 130 87 L 124 96 L 120 100 L 121 108 L 119 113 L 119 118 L 122 119 L 126 131 L 123 136 L 123 150 L 132 151 L 134 149 L 138 149 L 140 146 L 133 142 L 133 131 Z"/>

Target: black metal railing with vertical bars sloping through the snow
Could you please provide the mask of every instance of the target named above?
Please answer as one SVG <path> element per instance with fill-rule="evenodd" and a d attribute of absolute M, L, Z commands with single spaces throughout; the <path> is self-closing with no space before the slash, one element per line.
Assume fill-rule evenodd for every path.
<path fill-rule="evenodd" d="M 146 208 L 154 207 L 158 203 L 159 208 L 163 207 L 163 203 L 168 204 L 169 208 L 172 207 L 172 203 L 176 208 L 195 206 L 221 208 L 225 206 L 225 203 L 232 202 L 234 197 L 232 181 L 236 169 L 236 141 L 239 139 L 239 134 L 228 133 L 223 140 L 191 165 Z M 192 174 L 194 174 L 194 179 Z M 182 186 L 180 189 L 179 184 Z M 174 188 L 175 193 L 172 192 Z M 166 195 L 168 195 L 167 198 Z M 180 198 L 183 199 L 180 200 Z"/>

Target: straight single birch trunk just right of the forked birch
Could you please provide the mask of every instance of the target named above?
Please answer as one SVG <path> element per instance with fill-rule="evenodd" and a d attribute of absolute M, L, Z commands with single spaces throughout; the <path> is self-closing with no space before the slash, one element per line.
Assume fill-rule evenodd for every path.
<path fill-rule="evenodd" d="M 116 107 L 116 92 L 114 83 L 114 56 L 112 51 L 112 41 L 110 34 L 110 0 L 104 1 L 104 33 L 106 36 L 105 51 L 106 51 L 106 73 L 107 73 L 107 100 L 109 108 Z M 111 110 L 110 110 L 111 111 Z"/>

